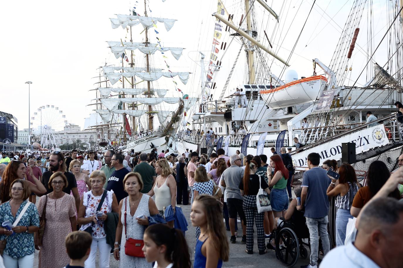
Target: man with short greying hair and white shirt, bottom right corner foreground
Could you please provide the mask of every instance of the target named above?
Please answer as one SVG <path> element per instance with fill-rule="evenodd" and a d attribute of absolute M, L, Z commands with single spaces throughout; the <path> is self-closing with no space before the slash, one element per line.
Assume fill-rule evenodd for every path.
<path fill-rule="evenodd" d="M 331 250 L 321 267 L 403 267 L 403 203 L 374 198 L 359 213 L 356 226 L 355 242 Z"/>

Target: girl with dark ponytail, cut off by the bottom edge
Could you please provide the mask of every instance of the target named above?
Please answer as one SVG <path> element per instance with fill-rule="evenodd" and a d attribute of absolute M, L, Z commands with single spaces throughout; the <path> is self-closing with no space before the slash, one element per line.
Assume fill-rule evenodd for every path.
<path fill-rule="evenodd" d="M 166 224 L 154 224 L 144 232 L 143 252 L 154 268 L 191 268 L 189 248 L 183 233 Z"/>

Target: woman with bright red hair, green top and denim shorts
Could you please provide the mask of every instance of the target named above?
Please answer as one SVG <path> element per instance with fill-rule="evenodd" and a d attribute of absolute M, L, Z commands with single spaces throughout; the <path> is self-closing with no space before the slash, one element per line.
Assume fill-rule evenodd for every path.
<path fill-rule="evenodd" d="M 270 165 L 267 167 L 267 177 L 269 187 L 273 187 L 270 193 L 270 203 L 274 217 L 283 217 L 283 210 L 286 211 L 288 209 L 288 174 L 289 172 L 285 168 L 280 155 L 272 155 L 270 157 Z"/>

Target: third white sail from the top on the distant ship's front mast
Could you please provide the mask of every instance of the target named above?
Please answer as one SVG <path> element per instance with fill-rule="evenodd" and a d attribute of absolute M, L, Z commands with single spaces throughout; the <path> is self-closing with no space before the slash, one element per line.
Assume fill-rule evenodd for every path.
<path fill-rule="evenodd" d="M 109 82 L 112 85 L 115 84 L 116 82 L 118 82 L 122 76 L 124 76 L 126 78 L 129 78 L 132 76 L 137 76 L 138 78 L 141 78 L 142 80 L 145 80 L 145 81 L 155 81 L 157 79 L 160 79 L 162 76 L 167 77 L 167 78 L 178 76 L 179 80 L 181 80 L 181 82 L 186 85 L 187 80 L 189 80 L 189 74 L 190 74 L 189 72 L 104 73 L 104 75 L 106 75 L 106 77 L 109 79 Z"/>

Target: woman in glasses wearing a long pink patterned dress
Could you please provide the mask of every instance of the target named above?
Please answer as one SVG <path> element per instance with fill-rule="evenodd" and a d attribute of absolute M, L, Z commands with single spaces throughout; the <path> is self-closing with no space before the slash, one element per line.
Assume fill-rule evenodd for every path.
<path fill-rule="evenodd" d="M 40 217 L 46 217 L 42 241 L 35 234 L 35 248 L 39 251 L 39 268 L 64 267 L 70 262 L 64 239 L 71 231 L 76 231 L 75 199 L 63 192 L 67 178 L 64 172 L 55 172 L 50 176 L 48 187 L 53 189 L 42 196 L 38 203 Z M 46 206 L 46 214 L 43 215 Z"/>

